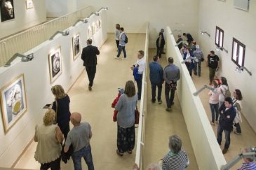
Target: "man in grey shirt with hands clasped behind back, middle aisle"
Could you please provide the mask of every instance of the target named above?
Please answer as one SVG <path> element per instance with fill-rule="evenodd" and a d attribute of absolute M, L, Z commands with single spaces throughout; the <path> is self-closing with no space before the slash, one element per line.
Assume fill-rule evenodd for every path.
<path fill-rule="evenodd" d="M 164 80 L 165 80 L 165 99 L 167 104 L 167 112 L 171 112 L 171 105 L 173 105 L 174 93 L 177 86 L 177 80 L 180 79 L 181 73 L 179 67 L 173 64 L 172 57 L 168 58 L 168 65 L 164 68 Z M 170 96 L 171 91 L 171 96 Z"/>

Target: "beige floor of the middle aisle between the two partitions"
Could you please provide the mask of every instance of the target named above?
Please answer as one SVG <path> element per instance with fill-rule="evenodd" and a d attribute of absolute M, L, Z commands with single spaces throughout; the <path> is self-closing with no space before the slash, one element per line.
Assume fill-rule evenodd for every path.
<path fill-rule="evenodd" d="M 149 50 L 148 61 L 151 62 L 155 55 L 156 49 Z M 167 65 L 165 55 L 162 55 L 161 65 L 164 68 Z M 148 71 L 149 73 L 149 71 Z M 182 148 L 187 151 L 190 159 L 190 165 L 187 170 L 198 170 L 197 162 L 194 156 L 194 151 L 191 146 L 190 138 L 187 132 L 184 117 L 182 115 L 181 106 L 177 95 L 174 98 L 172 112 L 166 112 L 166 101 L 164 96 L 164 84 L 162 87 L 161 105 L 151 103 L 151 85 L 148 76 L 148 99 L 147 99 L 147 119 L 146 119 L 146 134 L 145 134 L 145 157 L 144 165 L 150 163 L 158 163 L 161 158 L 167 154 L 168 140 L 170 135 L 179 135 L 182 139 Z"/>

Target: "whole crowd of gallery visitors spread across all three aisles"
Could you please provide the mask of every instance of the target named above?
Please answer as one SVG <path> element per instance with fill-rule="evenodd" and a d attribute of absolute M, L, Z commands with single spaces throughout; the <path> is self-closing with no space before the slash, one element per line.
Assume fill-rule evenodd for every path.
<path fill-rule="evenodd" d="M 174 94 L 177 86 L 177 81 L 181 77 L 179 67 L 174 64 L 174 58 L 168 58 L 166 67 L 161 66 L 159 60 L 164 49 L 164 29 L 159 32 L 159 37 L 156 41 L 157 55 L 153 57 L 153 61 L 149 63 L 150 81 L 151 81 L 151 102 L 158 104 L 162 103 L 161 91 L 162 84 L 165 82 L 164 93 L 166 99 L 166 111 L 171 112 L 171 106 L 174 104 Z M 201 61 L 203 61 L 203 53 L 199 45 L 196 45 L 194 39 L 189 33 L 184 33 L 187 37 L 187 44 L 180 43 L 178 48 L 181 50 L 181 55 L 186 60 L 187 68 L 192 76 L 194 74 L 200 77 Z M 121 51 L 124 52 L 126 58 L 125 45 L 128 41 L 124 29 L 116 24 L 115 41 L 118 49 L 116 59 L 119 59 Z M 178 35 L 178 41 L 183 42 L 181 35 Z M 178 42 L 177 42 L 178 43 Z M 92 91 L 92 85 L 96 73 L 97 55 L 99 50 L 92 46 L 92 40 L 87 40 L 87 46 L 83 48 L 81 59 L 84 62 L 85 70 L 89 79 L 89 91 Z M 135 147 L 135 110 L 137 109 L 138 100 L 141 99 L 142 77 L 146 67 L 144 51 L 138 51 L 137 62 L 131 66 L 132 74 L 135 78 L 135 83 L 138 87 L 138 92 L 135 90 L 135 83 L 128 80 L 125 83 L 125 89 L 119 89 L 118 97 L 115 100 L 115 116 L 117 121 L 117 150 L 118 156 L 122 157 L 126 152 L 132 154 Z M 192 67 L 193 66 L 193 67 Z M 209 67 L 209 79 L 212 90 L 210 90 L 210 110 L 212 114 L 211 124 L 218 124 L 217 141 L 221 144 L 222 133 L 225 132 L 225 146 L 223 154 L 228 151 L 230 146 L 230 132 L 233 126 L 236 127 L 235 134 L 241 135 L 240 123 L 243 99 L 239 89 L 234 90 L 233 98 L 229 96 L 229 87 L 225 77 L 221 77 L 220 81 L 214 80 L 214 75 L 219 68 L 219 58 L 210 51 L 207 57 L 207 66 Z M 198 68 L 198 69 L 197 69 Z M 158 95 L 156 96 L 156 88 L 158 87 Z M 81 122 L 82 116 L 78 112 L 69 111 L 69 96 L 65 93 L 61 85 L 52 87 L 52 93 L 55 100 L 49 106 L 43 117 L 43 124 L 36 125 L 34 141 L 37 147 L 35 159 L 41 164 L 40 169 L 60 170 L 60 162 L 63 157 L 71 157 L 75 170 L 82 170 L 82 157 L 85 159 L 88 170 L 94 170 L 92 159 L 92 151 L 90 139 L 92 138 L 92 129 L 88 122 Z M 113 117 L 114 119 L 114 117 Z M 70 130 L 69 121 L 73 128 Z M 169 138 L 169 151 L 161 159 L 161 164 L 151 164 L 147 170 L 184 170 L 189 165 L 187 153 L 181 149 L 182 141 L 178 135 L 171 135 Z M 253 160 L 246 159 L 243 166 L 256 167 Z M 135 164 L 134 170 L 139 170 Z M 241 169 L 243 170 L 243 169 Z M 252 169 L 253 170 L 253 169 Z"/>

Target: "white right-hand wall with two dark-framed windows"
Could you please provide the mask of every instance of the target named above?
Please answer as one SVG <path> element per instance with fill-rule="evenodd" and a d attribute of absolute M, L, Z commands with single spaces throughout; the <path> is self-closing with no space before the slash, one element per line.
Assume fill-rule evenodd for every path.
<path fill-rule="evenodd" d="M 256 1 L 251 0 L 249 12 L 235 9 L 233 0 L 221 2 L 219 0 L 200 0 L 199 3 L 199 29 L 210 33 L 211 37 L 199 36 L 200 47 L 204 54 L 215 48 L 216 26 L 224 30 L 223 47 L 228 50 L 218 52 L 220 57 L 220 73 L 228 80 L 230 91 L 240 89 L 243 94 L 243 115 L 256 132 Z M 231 61 L 233 37 L 246 45 L 244 66 L 252 72 L 238 73 L 235 71 L 236 64 Z M 231 91 L 232 92 L 232 91 Z M 243 126 L 243 125 L 242 125 Z M 243 128 L 243 127 L 242 127 Z"/>

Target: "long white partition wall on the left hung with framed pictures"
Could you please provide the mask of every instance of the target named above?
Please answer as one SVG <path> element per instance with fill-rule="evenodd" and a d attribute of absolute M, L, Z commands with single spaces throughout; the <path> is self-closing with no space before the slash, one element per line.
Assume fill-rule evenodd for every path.
<path fill-rule="evenodd" d="M 35 125 L 42 123 L 43 114 L 46 111 L 42 107 L 54 100 L 51 87 L 61 84 L 66 91 L 83 71 L 83 62 L 80 56 L 75 61 L 72 58 L 72 37 L 80 33 L 82 51 L 87 39 L 87 27 L 92 22 L 95 22 L 96 19 L 101 18 L 102 29 L 95 33 L 92 38 L 92 44 L 100 47 L 105 42 L 107 39 L 107 31 L 104 26 L 106 23 L 106 13 L 103 10 L 100 16 L 92 16 L 88 23 L 79 22 L 75 27 L 70 27 L 70 34 L 68 36 L 59 34 L 53 41 L 46 41 L 31 49 L 26 54 L 34 53 L 32 61 L 23 63 L 20 62 L 20 59 L 16 59 L 10 67 L 0 67 L 0 87 L 5 86 L 10 80 L 21 73 L 24 74 L 28 108 L 27 112 L 24 113 L 7 134 L 4 134 L 2 120 L 0 120 L 0 167 L 11 167 L 33 138 Z M 59 46 L 61 47 L 62 55 L 62 74 L 51 84 L 48 55 Z"/>

